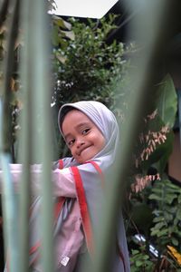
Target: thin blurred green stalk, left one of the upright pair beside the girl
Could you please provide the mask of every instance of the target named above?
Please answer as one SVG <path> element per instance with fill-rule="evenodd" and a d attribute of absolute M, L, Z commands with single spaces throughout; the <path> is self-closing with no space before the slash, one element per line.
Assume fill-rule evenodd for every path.
<path fill-rule="evenodd" d="M 24 48 L 21 53 L 20 79 L 22 82 L 24 109 L 20 115 L 21 133 L 18 147 L 18 162 L 23 162 L 23 175 L 20 182 L 20 272 L 29 270 L 29 208 L 30 208 L 30 164 L 33 157 L 33 141 L 30 135 L 33 131 L 33 93 L 32 93 L 32 56 L 30 22 L 32 14 L 30 2 L 22 1 L 20 23 L 24 31 Z"/>

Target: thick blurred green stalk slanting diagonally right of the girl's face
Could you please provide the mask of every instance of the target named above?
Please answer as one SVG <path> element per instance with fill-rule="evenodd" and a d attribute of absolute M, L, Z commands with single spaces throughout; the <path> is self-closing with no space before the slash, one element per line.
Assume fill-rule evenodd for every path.
<path fill-rule="evenodd" d="M 125 3 L 126 5 L 126 3 Z M 148 105 L 152 102 L 153 93 L 148 92 L 153 83 L 154 71 L 150 66 L 151 61 L 157 58 L 157 53 L 162 53 L 159 46 L 160 38 L 165 38 L 163 32 L 163 18 L 167 18 L 167 3 L 164 1 L 130 1 L 131 12 L 136 8 L 142 12 L 135 16 L 130 25 L 129 34 L 136 34 L 137 41 L 144 45 L 144 53 L 141 59 L 132 60 L 137 70 L 130 71 L 129 88 L 132 92 L 129 101 L 129 114 L 126 114 L 126 122 L 121 125 L 121 146 L 115 169 L 111 173 L 110 187 L 107 190 L 105 209 L 102 214 L 102 224 L 98 230 L 96 243 L 96 254 L 93 272 L 107 270 L 110 263 L 111 243 L 115 234 L 115 226 L 121 207 L 121 189 L 124 187 L 124 180 L 127 180 L 129 173 L 129 161 L 135 139 L 138 137 L 139 121 L 147 111 Z M 138 8 L 139 7 L 139 8 Z M 146 22 L 147 24 L 144 24 Z M 159 48 L 160 47 L 160 48 Z M 159 49 L 157 49 L 159 48 Z M 162 51 L 161 51 L 162 50 Z M 155 59 L 154 59 L 155 60 Z"/>

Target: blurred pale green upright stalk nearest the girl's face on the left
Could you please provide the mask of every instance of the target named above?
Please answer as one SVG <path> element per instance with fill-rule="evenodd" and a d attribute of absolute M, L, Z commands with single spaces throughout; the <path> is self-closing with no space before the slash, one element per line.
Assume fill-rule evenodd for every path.
<path fill-rule="evenodd" d="M 48 1 L 29 1 L 31 73 L 33 93 L 33 160 L 43 165 L 42 181 L 42 257 L 43 271 L 53 271 L 52 247 L 52 128 L 51 128 L 51 74 L 50 23 Z"/>

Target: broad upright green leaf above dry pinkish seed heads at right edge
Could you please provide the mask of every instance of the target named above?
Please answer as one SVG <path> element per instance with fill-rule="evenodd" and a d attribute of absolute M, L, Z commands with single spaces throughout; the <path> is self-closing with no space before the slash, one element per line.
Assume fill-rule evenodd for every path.
<path fill-rule="evenodd" d="M 161 119 L 170 128 L 173 128 L 176 120 L 177 96 L 172 78 L 167 74 L 158 88 L 157 111 Z"/>

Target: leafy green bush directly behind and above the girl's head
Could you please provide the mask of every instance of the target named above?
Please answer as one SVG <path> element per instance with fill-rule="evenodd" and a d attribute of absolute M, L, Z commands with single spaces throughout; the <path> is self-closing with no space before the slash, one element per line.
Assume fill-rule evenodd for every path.
<path fill-rule="evenodd" d="M 131 45 L 125 50 L 123 44 L 116 41 L 106 44 L 107 35 L 116 27 L 115 19 L 115 15 L 110 15 L 109 20 L 104 18 L 99 22 L 88 20 L 85 23 L 71 18 L 67 23 L 57 17 L 53 20 L 52 63 L 56 85 L 52 92 L 52 103 L 55 141 L 60 139 L 57 112 L 65 102 L 104 102 L 123 118 L 123 110 L 121 112 L 117 104 L 122 102 L 122 109 L 126 109 L 126 93 L 121 85 L 126 84 L 128 62 L 125 52 L 131 50 Z M 59 145 L 62 153 L 58 157 L 62 157 L 67 149 L 65 147 L 64 150 L 62 141 L 59 141 Z"/>

